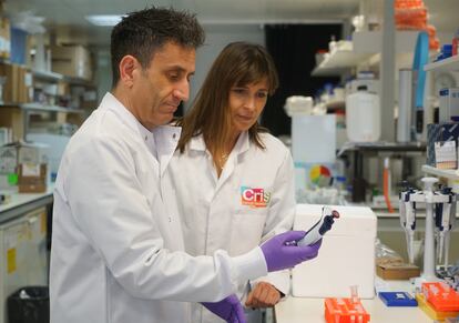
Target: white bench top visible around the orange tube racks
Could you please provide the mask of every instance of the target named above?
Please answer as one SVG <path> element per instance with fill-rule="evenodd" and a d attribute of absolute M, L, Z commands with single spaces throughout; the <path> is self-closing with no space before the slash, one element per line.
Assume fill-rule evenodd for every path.
<path fill-rule="evenodd" d="M 407 281 L 387 282 L 394 292 L 410 292 Z M 365 310 L 370 314 L 371 323 L 431 323 L 419 307 L 387 307 L 379 296 L 373 300 L 361 300 Z M 325 322 L 324 299 L 303 299 L 289 296 L 278 303 L 275 309 L 276 323 L 323 323 Z"/>

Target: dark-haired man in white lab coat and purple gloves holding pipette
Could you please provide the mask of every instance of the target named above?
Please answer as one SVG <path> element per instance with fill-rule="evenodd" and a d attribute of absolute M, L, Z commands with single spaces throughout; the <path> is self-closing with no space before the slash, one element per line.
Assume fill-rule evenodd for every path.
<path fill-rule="evenodd" d="M 113 89 L 69 142 L 54 192 L 51 323 L 190 322 L 186 302 L 227 322 L 245 322 L 232 293 L 267 272 L 317 255 L 287 232 L 236 258 L 184 253 L 173 188 L 162 176 L 180 137 L 164 127 L 187 100 L 194 16 L 133 12 L 111 38 Z"/>

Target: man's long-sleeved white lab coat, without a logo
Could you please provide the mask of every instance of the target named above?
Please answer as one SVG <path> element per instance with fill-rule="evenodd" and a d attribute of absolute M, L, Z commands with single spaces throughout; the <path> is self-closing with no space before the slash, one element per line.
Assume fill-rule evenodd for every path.
<path fill-rule="evenodd" d="M 54 192 L 51 323 L 191 322 L 186 301 L 221 300 L 267 273 L 259 248 L 183 252 L 162 180 L 178 134 L 147 131 L 108 93 L 70 140 Z"/>

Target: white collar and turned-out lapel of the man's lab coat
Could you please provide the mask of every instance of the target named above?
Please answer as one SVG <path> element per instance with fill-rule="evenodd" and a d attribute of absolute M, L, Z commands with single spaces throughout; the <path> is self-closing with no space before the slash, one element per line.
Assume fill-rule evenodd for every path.
<path fill-rule="evenodd" d="M 164 174 L 169 162 L 177 147 L 182 128 L 173 125 L 159 125 L 152 131 L 146 129 L 112 93 L 108 92 L 101 102 L 102 109 L 112 109 L 121 119 L 144 140 L 154 140 L 156 158 L 160 163 L 161 175 Z M 150 149 L 150 148 L 149 148 Z"/>

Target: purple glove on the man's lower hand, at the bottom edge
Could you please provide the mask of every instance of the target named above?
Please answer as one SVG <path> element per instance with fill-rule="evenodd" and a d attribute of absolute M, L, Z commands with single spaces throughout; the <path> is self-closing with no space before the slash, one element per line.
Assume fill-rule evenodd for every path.
<path fill-rule="evenodd" d="M 227 323 L 247 323 L 244 315 L 244 309 L 235 294 L 232 294 L 220 302 L 203 302 L 201 304 Z"/>

